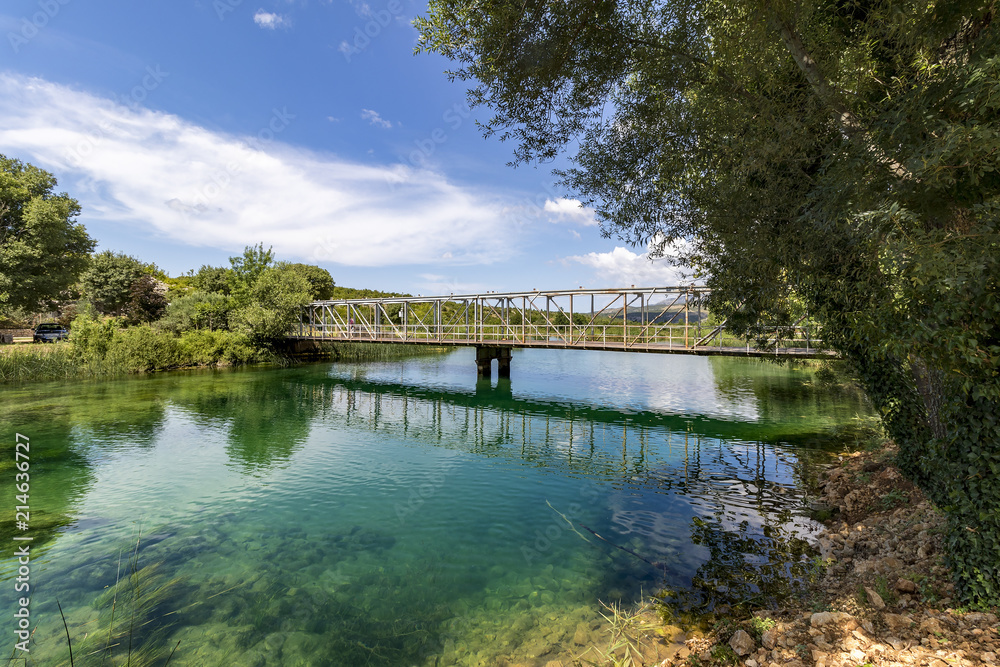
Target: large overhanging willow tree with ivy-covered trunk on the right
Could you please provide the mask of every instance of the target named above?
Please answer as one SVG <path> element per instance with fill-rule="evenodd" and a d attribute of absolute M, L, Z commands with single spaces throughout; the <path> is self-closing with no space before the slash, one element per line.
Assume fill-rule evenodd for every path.
<path fill-rule="evenodd" d="M 713 308 L 802 308 L 1000 602 L 1000 55 L 982 0 L 431 0 L 419 49 L 607 234 L 685 240 Z"/>

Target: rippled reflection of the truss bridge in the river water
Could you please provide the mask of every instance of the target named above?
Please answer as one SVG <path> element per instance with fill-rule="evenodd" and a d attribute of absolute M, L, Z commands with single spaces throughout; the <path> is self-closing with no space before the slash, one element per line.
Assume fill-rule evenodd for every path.
<path fill-rule="evenodd" d="M 827 459 L 820 449 L 802 446 L 815 445 L 815 433 L 514 397 L 503 379 L 495 385 L 481 379 L 474 392 L 464 392 L 331 377 L 311 392 L 314 405 L 322 406 L 320 421 L 622 489 L 676 491 L 712 512 L 725 506 L 760 517 L 801 509 L 792 493 L 800 466 Z"/>

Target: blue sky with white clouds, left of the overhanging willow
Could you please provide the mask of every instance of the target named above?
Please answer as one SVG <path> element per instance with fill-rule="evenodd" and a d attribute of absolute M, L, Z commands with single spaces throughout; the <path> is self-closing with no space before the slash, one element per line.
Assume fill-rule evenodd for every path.
<path fill-rule="evenodd" d="M 99 249 L 171 275 L 245 245 L 413 294 L 673 285 L 553 165 L 507 166 L 406 0 L 7 0 L 0 153 L 53 172 Z"/>

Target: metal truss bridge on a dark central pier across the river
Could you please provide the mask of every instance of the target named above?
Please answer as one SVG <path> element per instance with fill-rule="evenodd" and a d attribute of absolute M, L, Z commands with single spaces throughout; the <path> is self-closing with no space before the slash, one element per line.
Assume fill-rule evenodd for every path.
<path fill-rule="evenodd" d="M 509 376 L 512 348 L 828 355 L 805 317 L 766 350 L 732 337 L 705 308 L 709 293 L 689 285 L 316 301 L 302 307 L 290 338 L 475 347 L 480 374 L 489 376 L 490 362 L 498 359 L 501 377 Z"/>

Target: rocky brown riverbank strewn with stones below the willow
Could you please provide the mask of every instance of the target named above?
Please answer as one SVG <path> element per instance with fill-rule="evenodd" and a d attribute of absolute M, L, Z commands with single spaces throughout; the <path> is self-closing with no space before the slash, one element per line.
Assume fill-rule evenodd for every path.
<path fill-rule="evenodd" d="M 749 619 L 676 635 L 661 667 L 973 667 L 1000 663 L 996 609 L 964 609 L 943 565 L 944 517 L 891 464 L 891 448 L 841 454 L 819 482 L 832 511 L 825 574 Z M 663 650 L 663 649 L 661 649 Z"/>

